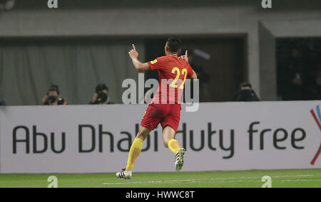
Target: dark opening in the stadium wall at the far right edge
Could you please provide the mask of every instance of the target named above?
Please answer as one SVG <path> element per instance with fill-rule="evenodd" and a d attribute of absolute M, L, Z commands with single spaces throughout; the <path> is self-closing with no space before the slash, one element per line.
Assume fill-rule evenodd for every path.
<path fill-rule="evenodd" d="M 320 100 L 320 42 L 317 38 L 280 41 L 277 93 L 281 100 Z M 284 50 L 288 55 L 283 56 Z"/>

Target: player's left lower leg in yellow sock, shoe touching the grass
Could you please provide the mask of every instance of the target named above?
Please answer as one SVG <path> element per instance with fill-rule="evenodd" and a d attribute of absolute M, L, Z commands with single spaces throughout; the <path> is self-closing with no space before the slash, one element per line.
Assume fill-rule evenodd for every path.
<path fill-rule="evenodd" d="M 128 160 L 126 169 L 118 172 L 116 176 L 123 179 L 131 179 L 133 166 L 139 154 L 141 154 L 141 149 L 143 147 L 143 141 L 146 139 L 148 134 L 151 132 L 151 129 L 147 127 L 140 127 L 136 138 L 131 144 L 131 149 L 129 150 Z"/>

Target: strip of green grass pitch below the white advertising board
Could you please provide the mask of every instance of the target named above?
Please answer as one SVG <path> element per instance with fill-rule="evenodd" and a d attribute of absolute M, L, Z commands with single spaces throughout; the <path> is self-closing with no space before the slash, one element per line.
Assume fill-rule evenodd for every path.
<path fill-rule="evenodd" d="M 205 171 L 173 173 L 134 173 L 131 180 L 117 179 L 115 174 L 1 174 L 0 188 L 42 187 L 56 176 L 58 188 L 216 188 L 253 187 L 265 184 L 263 176 L 270 176 L 272 188 L 321 187 L 321 169 L 274 171 Z"/>

